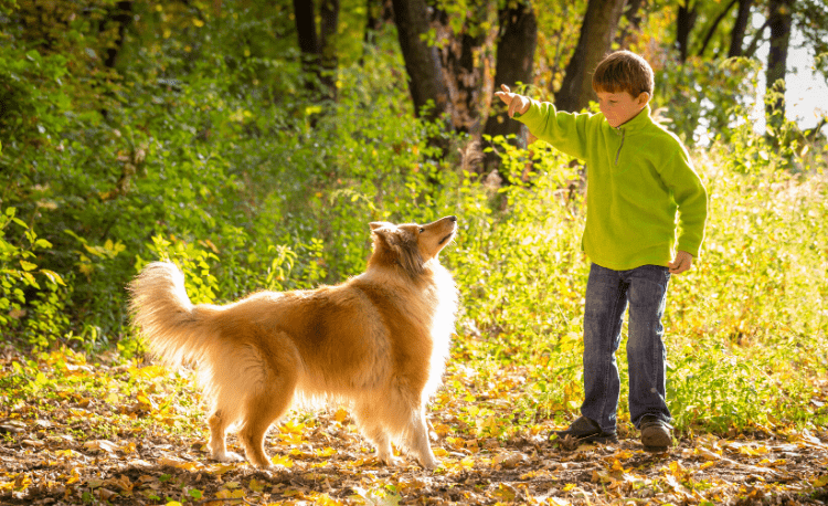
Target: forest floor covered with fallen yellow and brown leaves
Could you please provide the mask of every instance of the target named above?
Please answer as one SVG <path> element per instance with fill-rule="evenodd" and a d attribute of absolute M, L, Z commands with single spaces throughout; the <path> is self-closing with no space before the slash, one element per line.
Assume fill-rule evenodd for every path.
<path fill-rule="evenodd" d="M 514 375 L 505 369 L 500 373 Z M 461 372 L 449 369 L 447 381 Z M 457 379 L 457 378 L 455 378 Z M 459 378 L 458 380 L 461 380 Z M 514 386 L 513 388 L 520 388 Z M 565 447 L 549 420 L 508 438 L 474 435 L 463 400 L 431 411 L 440 460 L 386 467 L 343 410 L 291 412 L 265 443 L 275 464 L 213 462 L 192 375 L 89 365 L 65 350 L 0 355 L 0 504 L 826 504 L 828 432 L 681 434 L 643 451 Z M 509 402 L 493 402 L 508 418 Z M 240 452 L 235 436 L 231 450 Z"/>

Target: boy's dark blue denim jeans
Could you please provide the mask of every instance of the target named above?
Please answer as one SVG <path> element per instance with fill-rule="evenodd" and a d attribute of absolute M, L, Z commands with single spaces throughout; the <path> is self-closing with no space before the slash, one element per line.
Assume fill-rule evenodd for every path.
<path fill-rule="evenodd" d="M 616 430 L 620 378 L 615 352 L 620 345 L 624 313 L 629 306 L 627 365 L 629 418 L 636 428 L 645 414 L 670 422 L 665 401 L 667 351 L 665 329 L 670 272 L 658 265 L 613 271 L 592 264 L 584 313 L 584 403 L 581 414 L 604 432 Z"/>

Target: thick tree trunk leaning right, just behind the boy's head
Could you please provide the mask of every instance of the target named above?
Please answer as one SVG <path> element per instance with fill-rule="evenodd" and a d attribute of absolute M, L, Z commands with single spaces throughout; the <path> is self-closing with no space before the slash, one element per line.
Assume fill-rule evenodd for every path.
<path fill-rule="evenodd" d="M 561 89 L 555 94 L 555 106 L 561 110 L 577 112 L 595 99 L 592 72 L 612 48 L 618 28 L 624 0 L 590 0 L 575 53 L 566 65 Z"/>

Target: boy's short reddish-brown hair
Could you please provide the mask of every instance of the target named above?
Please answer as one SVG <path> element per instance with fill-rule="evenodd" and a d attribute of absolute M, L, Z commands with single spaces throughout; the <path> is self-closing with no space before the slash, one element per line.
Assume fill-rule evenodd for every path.
<path fill-rule="evenodd" d="M 646 92 L 652 97 L 654 81 L 652 67 L 645 59 L 629 51 L 616 51 L 595 67 L 592 88 L 596 93 L 627 92 L 634 98 Z"/>

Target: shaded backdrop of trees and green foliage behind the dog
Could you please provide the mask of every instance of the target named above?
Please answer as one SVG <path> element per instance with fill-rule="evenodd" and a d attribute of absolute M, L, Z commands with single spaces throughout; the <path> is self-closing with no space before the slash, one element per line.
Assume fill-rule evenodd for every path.
<path fill-rule="evenodd" d="M 542 147 L 516 149 L 526 133 L 491 101 L 496 85 L 590 107 L 590 62 L 611 49 L 652 63 L 654 107 L 686 143 L 730 141 L 755 120 L 757 77 L 786 78 L 792 31 L 828 51 L 827 12 L 824 0 L 0 0 L 0 325 L 117 340 L 136 264 L 170 252 L 220 260 L 217 287 L 193 287 L 204 299 L 261 287 L 252 273 L 290 287 L 358 271 L 364 214 L 428 209 L 460 186 L 442 179 L 456 167 L 469 185 L 495 164 L 511 182 L 545 167 Z M 773 64 L 755 60 L 762 44 Z M 828 57 L 815 66 L 825 74 Z M 819 140 L 777 122 L 769 96 L 776 152 Z M 488 164 L 466 149 L 478 140 Z M 577 173 L 558 172 L 574 199 Z"/>

